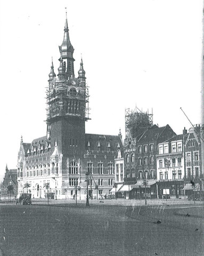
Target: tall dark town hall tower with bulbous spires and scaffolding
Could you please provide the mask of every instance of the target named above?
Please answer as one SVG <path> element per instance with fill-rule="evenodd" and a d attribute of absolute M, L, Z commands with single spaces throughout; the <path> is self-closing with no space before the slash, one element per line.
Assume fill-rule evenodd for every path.
<path fill-rule="evenodd" d="M 67 18 L 60 49 L 58 75 L 53 62 L 47 90 L 47 140 L 58 145 L 59 155 L 77 157 L 85 151 L 85 121 L 87 121 L 88 91 L 81 59 L 78 77 L 74 73 L 74 48 L 69 38 Z M 62 167 L 62 169 L 64 169 Z M 63 170 L 62 170 L 63 171 Z"/>

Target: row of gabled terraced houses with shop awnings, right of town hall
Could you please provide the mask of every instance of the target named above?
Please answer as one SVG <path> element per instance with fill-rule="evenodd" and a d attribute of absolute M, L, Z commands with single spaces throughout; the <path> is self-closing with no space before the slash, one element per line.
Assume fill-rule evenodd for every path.
<path fill-rule="evenodd" d="M 189 132 L 184 128 L 179 135 L 169 125 L 149 125 L 128 131 L 124 141 L 123 182 L 119 169 L 121 159 L 116 159 L 117 196 L 144 198 L 145 181 L 148 198 L 165 198 L 166 195 L 201 198 L 204 178 L 202 132 L 200 125 L 191 127 Z"/>

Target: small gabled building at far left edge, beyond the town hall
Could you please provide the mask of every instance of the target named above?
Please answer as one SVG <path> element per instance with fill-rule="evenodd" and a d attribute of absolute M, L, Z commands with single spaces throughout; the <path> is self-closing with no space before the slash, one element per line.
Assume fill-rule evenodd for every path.
<path fill-rule="evenodd" d="M 18 182 L 17 169 L 8 169 L 6 165 L 5 176 L 1 184 L 1 198 L 6 198 L 7 195 L 17 196 Z"/>

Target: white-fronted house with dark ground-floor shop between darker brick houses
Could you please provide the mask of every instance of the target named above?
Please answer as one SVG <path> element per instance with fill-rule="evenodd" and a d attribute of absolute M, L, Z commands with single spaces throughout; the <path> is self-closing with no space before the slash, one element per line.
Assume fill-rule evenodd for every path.
<path fill-rule="evenodd" d="M 183 151 L 183 134 L 174 135 L 174 137 L 158 144 L 157 185 L 159 198 L 164 194 L 175 197 L 184 194 Z"/>

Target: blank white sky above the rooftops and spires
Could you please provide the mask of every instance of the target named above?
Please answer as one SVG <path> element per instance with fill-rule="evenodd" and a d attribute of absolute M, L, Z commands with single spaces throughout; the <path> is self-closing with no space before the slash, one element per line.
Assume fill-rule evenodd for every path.
<path fill-rule="evenodd" d="M 0 0 L 0 180 L 23 142 L 46 135 L 51 61 L 58 74 L 68 17 L 75 75 L 89 86 L 86 133 L 125 138 L 125 109 L 153 109 L 153 123 L 181 134 L 201 123 L 202 0 Z"/>

